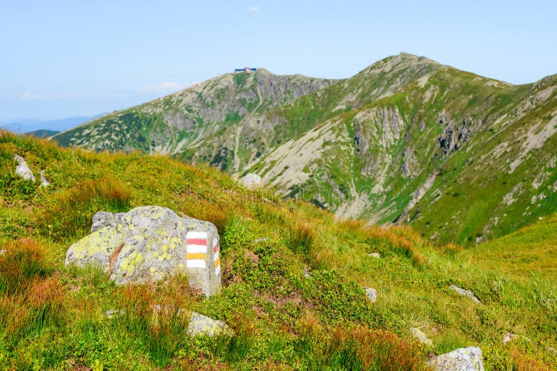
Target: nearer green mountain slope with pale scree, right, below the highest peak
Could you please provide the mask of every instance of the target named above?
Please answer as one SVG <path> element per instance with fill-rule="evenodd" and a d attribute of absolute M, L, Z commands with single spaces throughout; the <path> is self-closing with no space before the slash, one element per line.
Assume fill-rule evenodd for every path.
<path fill-rule="evenodd" d="M 274 148 L 248 171 L 338 216 L 476 243 L 554 212 L 556 77 L 441 68 Z"/>

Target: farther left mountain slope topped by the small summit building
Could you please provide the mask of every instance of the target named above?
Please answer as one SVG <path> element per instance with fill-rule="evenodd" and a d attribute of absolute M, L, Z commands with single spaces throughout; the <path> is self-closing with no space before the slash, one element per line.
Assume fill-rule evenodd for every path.
<path fill-rule="evenodd" d="M 264 69 L 223 74 L 62 132 L 54 140 L 91 150 L 176 154 L 255 113 L 293 102 L 332 82 L 301 75 L 276 76 Z"/>

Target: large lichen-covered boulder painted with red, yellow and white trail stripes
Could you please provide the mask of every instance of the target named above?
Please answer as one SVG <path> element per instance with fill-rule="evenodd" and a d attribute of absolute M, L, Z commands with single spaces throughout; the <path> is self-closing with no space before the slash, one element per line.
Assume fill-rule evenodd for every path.
<path fill-rule="evenodd" d="M 221 289 L 219 234 L 208 221 L 144 206 L 120 214 L 98 212 L 91 232 L 70 246 L 66 265 L 97 265 L 120 285 L 183 271 L 207 297 Z"/>

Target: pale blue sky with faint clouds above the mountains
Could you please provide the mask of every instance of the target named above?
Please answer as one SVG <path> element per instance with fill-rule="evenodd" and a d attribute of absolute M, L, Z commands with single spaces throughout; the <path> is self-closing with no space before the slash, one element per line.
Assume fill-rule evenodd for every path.
<path fill-rule="evenodd" d="M 0 1 L 0 120 L 91 116 L 244 66 L 350 77 L 402 51 L 557 73 L 553 1 Z"/>

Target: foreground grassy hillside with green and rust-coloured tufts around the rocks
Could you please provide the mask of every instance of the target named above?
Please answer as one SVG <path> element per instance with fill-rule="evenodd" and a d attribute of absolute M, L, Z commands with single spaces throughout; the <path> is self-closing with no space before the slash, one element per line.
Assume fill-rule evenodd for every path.
<path fill-rule="evenodd" d="M 44 170 L 51 186 L 19 178 L 14 154 L 34 173 Z M 101 271 L 64 267 L 65 251 L 88 234 L 95 212 L 141 205 L 217 226 L 221 294 L 205 299 L 181 276 L 116 287 Z M 430 354 L 466 345 L 483 349 L 487 369 L 557 368 L 547 349 L 557 345 L 553 276 L 494 264 L 534 244 L 529 256 L 551 272 L 555 235 L 547 231 L 555 217 L 463 249 L 432 244 L 408 227 L 336 221 L 311 204 L 246 190 L 209 166 L 60 149 L 0 132 L 0 219 L 3 368 L 423 370 Z M 375 252 L 381 258 L 368 255 Z M 532 267 L 512 260 L 522 264 Z M 451 283 L 482 304 L 448 290 Z M 376 303 L 363 286 L 377 290 Z M 175 309 L 156 313 L 155 304 Z M 221 319 L 235 335 L 191 338 L 178 308 Z M 107 319 L 109 309 L 124 314 Z M 411 326 L 434 346 L 414 342 Z M 508 331 L 520 337 L 503 345 Z"/>

